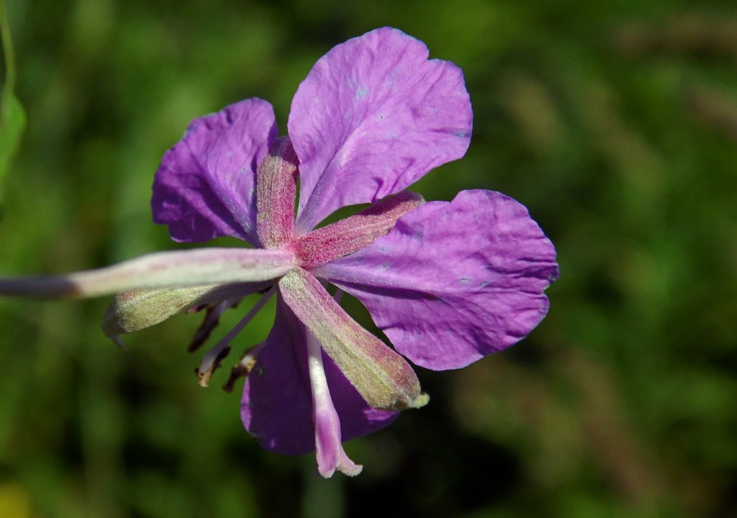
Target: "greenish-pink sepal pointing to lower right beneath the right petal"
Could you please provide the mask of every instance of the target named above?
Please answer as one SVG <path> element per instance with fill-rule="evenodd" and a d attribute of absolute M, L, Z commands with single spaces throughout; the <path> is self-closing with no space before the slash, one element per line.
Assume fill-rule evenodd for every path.
<path fill-rule="evenodd" d="M 368 405 L 403 410 L 427 404 L 404 358 L 350 318 L 310 273 L 291 270 L 279 280 L 279 291 Z"/>

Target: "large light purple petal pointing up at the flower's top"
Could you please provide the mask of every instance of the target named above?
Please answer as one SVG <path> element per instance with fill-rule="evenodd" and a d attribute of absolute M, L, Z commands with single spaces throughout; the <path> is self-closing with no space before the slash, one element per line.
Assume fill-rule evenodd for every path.
<path fill-rule="evenodd" d="M 299 231 L 466 153 L 472 112 L 463 74 L 427 56 L 425 43 L 385 27 L 315 63 L 288 124 L 300 161 Z"/>

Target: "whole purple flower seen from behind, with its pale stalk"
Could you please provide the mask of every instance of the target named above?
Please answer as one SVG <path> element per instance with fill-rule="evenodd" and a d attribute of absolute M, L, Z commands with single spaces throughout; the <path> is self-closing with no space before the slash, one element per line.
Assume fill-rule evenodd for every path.
<path fill-rule="evenodd" d="M 193 346 L 225 309 L 263 293 L 206 354 L 203 383 L 276 294 L 270 335 L 234 369 L 233 377 L 250 372 L 243 424 L 265 449 L 316 450 L 324 477 L 357 475 L 342 441 L 427 403 L 405 357 L 441 370 L 511 346 L 545 316 L 543 292 L 558 276 L 553 245 L 520 203 L 483 190 L 425 203 L 404 190 L 461 158 L 471 136 L 460 69 L 427 57 L 422 42 L 376 29 L 315 63 L 292 101 L 287 136 L 278 137 L 262 99 L 192 122 L 156 172 L 154 220 L 178 241 L 231 236 L 254 248 L 151 254 L 37 280 L 36 292 L 32 281 L 0 281 L 0 293 L 92 296 L 125 287 L 105 317 L 116 340 L 206 307 Z M 370 205 L 317 227 L 360 203 Z M 338 287 L 333 295 L 329 284 Z M 366 306 L 394 349 L 340 307 L 343 292 Z"/>

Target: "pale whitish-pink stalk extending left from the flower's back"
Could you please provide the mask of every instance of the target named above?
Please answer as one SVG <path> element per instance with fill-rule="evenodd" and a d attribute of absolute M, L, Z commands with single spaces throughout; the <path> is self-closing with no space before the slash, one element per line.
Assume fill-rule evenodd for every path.
<path fill-rule="evenodd" d="M 198 248 L 149 253 L 117 265 L 65 276 L 0 279 L 0 295 L 97 297 L 130 290 L 277 279 L 296 265 L 280 248 Z"/>

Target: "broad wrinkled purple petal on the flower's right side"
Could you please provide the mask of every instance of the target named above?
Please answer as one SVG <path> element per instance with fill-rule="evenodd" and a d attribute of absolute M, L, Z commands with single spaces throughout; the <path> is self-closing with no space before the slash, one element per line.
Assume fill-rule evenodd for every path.
<path fill-rule="evenodd" d="M 417 365 L 459 368 L 511 346 L 548 312 L 555 248 L 498 192 L 430 202 L 363 251 L 313 271 L 359 298 Z"/>

